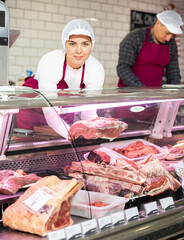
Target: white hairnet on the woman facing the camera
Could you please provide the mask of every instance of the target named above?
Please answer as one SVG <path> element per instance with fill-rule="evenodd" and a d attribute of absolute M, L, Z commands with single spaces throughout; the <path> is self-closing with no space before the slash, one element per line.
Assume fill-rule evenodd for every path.
<path fill-rule="evenodd" d="M 62 32 L 62 43 L 63 48 L 65 49 L 65 42 L 69 40 L 71 35 L 85 35 L 89 36 L 92 41 L 92 47 L 95 43 L 95 35 L 91 25 L 83 19 L 74 19 L 71 20 L 63 29 Z"/>

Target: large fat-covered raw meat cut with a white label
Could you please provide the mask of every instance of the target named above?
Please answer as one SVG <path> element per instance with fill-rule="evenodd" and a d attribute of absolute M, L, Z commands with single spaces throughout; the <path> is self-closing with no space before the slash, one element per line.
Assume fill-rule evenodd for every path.
<path fill-rule="evenodd" d="M 60 180 L 54 175 L 44 177 L 5 209 L 3 225 L 40 236 L 69 226 L 73 223 L 71 201 L 82 186 L 83 183 L 74 178 Z"/>

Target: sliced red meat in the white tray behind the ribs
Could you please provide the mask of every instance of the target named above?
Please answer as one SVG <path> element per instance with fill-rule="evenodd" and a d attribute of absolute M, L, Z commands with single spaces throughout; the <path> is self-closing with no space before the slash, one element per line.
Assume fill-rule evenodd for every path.
<path fill-rule="evenodd" d="M 138 158 L 149 155 L 150 153 L 159 153 L 154 146 L 145 145 L 142 141 L 136 141 L 135 143 L 131 143 L 124 148 L 113 148 L 113 150 L 127 158 Z"/>

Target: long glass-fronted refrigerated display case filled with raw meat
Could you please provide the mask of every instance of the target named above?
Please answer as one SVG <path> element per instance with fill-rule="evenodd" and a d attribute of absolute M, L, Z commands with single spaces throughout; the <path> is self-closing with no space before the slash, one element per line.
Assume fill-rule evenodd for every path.
<path fill-rule="evenodd" d="M 160 239 L 171 235 L 177 239 L 183 234 L 183 106 L 184 89 L 180 88 L 46 92 L 2 87 L 1 170 L 21 169 L 40 177 L 56 175 L 83 182 L 70 212 L 73 226 L 80 224 L 82 229 L 79 238 L 85 238 L 82 223 L 95 219 L 95 234 L 89 239 Z M 73 126 L 77 126 L 75 131 Z M 0 194 L 2 214 L 24 191 Z M 83 191 L 87 192 L 84 205 L 103 202 L 105 198 L 99 194 L 108 195 L 109 202 L 103 206 L 106 211 L 93 212 L 92 206 L 81 210 Z M 118 216 L 121 221 L 116 226 L 113 217 Z M 106 221 L 106 229 L 100 226 L 102 221 Z M 21 234 L 2 226 L 0 238 L 16 239 Z M 70 239 L 66 228 L 65 234 L 63 239 Z M 24 233 L 25 239 L 33 237 L 47 239 Z"/>

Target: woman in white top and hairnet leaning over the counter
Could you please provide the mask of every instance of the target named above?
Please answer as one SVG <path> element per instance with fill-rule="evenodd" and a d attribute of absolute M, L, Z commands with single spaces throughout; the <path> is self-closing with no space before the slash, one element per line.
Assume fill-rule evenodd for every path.
<path fill-rule="evenodd" d="M 104 84 L 104 68 L 102 64 L 91 55 L 95 37 L 91 25 L 82 19 L 70 21 L 63 29 L 63 49 L 57 49 L 44 55 L 34 77 L 28 79 L 23 86 L 39 90 L 53 91 L 56 89 L 102 89 Z M 63 135 L 62 126 L 56 126 L 58 121 L 55 111 L 43 108 L 44 116 L 50 127 Z M 21 112 L 20 112 L 21 114 Z M 22 114 L 21 114 L 22 115 Z M 83 119 L 96 117 L 96 112 L 86 112 Z M 35 116 L 34 116 L 35 118 Z M 21 127 L 17 118 L 18 127 Z M 25 119 L 25 113 L 24 113 Z M 27 119 L 29 121 L 30 119 Z M 34 122 L 34 125 L 36 122 Z M 60 124 L 61 125 L 61 124 Z M 61 129 L 60 129 L 61 128 Z M 66 134 L 64 134 L 66 135 Z"/>

